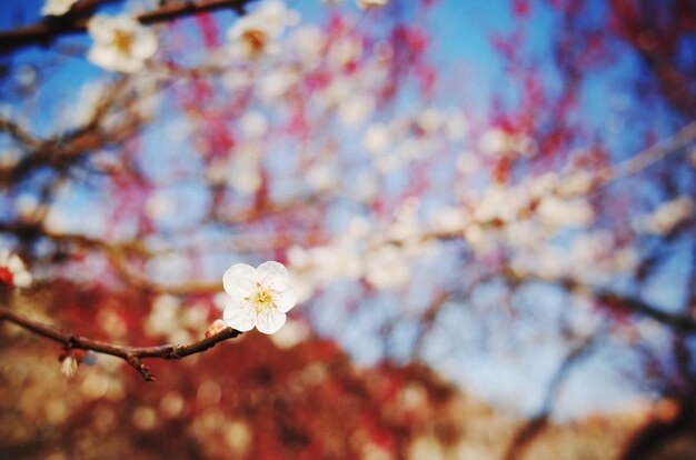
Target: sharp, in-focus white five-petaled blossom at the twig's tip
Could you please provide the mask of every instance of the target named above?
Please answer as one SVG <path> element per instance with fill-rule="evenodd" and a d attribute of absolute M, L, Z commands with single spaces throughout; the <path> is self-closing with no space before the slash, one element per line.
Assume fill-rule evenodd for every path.
<path fill-rule="evenodd" d="M 239 331 L 256 327 L 260 332 L 275 333 L 297 303 L 288 271 L 275 261 L 257 268 L 236 263 L 222 276 L 222 284 L 229 296 L 222 319 Z"/>

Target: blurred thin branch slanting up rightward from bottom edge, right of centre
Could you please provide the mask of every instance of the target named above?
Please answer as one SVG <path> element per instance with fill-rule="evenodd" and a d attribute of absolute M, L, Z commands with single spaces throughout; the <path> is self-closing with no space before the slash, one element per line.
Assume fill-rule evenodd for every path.
<path fill-rule="evenodd" d="M 578 361 L 587 357 L 594 343 L 595 336 L 590 336 L 570 349 L 548 384 L 540 410 L 517 430 L 503 457 L 505 460 L 521 458 L 534 439 L 544 431 L 568 372 Z"/>

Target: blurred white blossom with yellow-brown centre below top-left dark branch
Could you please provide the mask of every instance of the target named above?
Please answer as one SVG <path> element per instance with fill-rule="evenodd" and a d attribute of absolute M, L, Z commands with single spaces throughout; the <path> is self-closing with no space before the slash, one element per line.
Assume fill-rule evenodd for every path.
<path fill-rule="evenodd" d="M 95 43 L 87 58 L 107 70 L 137 72 L 157 51 L 155 32 L 126 14 L 95 16 L 88 31 Z"/>

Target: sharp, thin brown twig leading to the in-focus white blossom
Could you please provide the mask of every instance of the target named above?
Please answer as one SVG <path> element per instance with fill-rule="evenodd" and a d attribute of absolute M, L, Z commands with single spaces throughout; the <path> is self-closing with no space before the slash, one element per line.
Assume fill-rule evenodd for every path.
<path fill-rule="evenodd" d="M 206 351 L 215 347 L 218 342 L 233 339 L 242 333 L 236 329 L 227 328 L 215 336 L 185 346 L 163 344 L 157 347 L 127 347 L 100 340 L 87 339 L 70 332 L 64 332 L 53 326 L 34 321 L 4 307 L 0 307 L 0 321 L 2 320 L 13 322 L 14 324 L 27 329 L 37 336 L 62 343 L 67 349 L 91 350 L 97 353 L 111 354 L 113 357 L 121 358 L 136 369 L 146 381 L 153 381 L 155 376 L 150 372 L 148 366 L 142 362 L 142 359 L 145 358 L 182 359 L 188 356 Z"/>

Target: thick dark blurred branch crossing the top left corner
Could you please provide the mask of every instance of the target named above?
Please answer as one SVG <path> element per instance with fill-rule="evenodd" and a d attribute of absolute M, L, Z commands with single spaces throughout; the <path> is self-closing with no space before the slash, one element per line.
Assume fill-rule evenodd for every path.
<path fill-rule="evenodd" d="M 249 1 L 250 0 L 181 1 L 143 12 L 136 18 L 143 24 L 153 24 L 221 9 L 232 9 L 241 14 L 243 13 L 245 6 L 249 3 Z M 0 32 L 0 53 L 11 52 L 31 44 L 46 46 L 60 36 L 84 32 L 95 7 L 103 2 L 105 0 L 91 1 L 89 2 L 91 8 L 80 8 L 64 17 L 47 18 L 31 26 Z"/>

